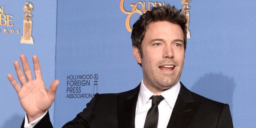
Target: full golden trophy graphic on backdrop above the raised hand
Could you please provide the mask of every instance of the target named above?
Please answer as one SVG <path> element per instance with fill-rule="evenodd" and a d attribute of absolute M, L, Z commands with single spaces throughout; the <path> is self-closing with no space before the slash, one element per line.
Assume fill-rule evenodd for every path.
<path fill-rule="evenodd" d="M 20 43 L 24 44 L 34 44 L 33 38 L 31 37 L 31 31 L 32 31 L 32 20 L 31 18 L 33 15 L 31 15 L 31 12 L 33 11 L 33 4 L 30 2 L 26 2 L 24 4 L 23 10 L 26 12 L 23 20 L 23 36 L 20 38 Z"/>

